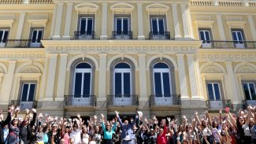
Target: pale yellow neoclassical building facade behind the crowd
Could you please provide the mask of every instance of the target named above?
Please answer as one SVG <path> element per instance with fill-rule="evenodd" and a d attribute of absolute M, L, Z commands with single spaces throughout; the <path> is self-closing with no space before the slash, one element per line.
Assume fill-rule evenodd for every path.
<path fill-rule="evenodd" d="M 0 0 L 0 106 L 83 118 L 256 103 L 256 1 Z"/>

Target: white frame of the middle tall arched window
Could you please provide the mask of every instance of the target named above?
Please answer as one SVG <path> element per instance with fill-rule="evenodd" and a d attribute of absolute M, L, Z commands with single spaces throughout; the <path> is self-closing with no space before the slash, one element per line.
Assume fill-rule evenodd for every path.
<path fill-rule="evenodd" d="M 120 64 L 120 63 L 118 63 L 118 64 Z M 131 66 L 130 66 L 130 68 L 115 68 L 115 66 L 114 66 L 114 68 L 113 68 L 113 95 L 116 95 L 116 73 L 121 73 L 121 89 L 122 89 L 121 95 L 124 95 L 124 73 L 130 74 L 130 95 L 132 95 L 132 68 L 131 68 Z"/>

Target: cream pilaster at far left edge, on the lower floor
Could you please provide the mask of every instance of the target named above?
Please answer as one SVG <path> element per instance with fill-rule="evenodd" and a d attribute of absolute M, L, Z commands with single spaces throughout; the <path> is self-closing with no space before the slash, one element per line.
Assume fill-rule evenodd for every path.
<path fill-rule="evenodd" d="M 6 73 L 2 83 L 1 98 L 2 104 L 8 105 L 9 98 L 11 98 L 11 90 L 13 85 L 13 77 L 15 72 L 15 66 L 17 61 L 9 61 L 8 72 Z"/>

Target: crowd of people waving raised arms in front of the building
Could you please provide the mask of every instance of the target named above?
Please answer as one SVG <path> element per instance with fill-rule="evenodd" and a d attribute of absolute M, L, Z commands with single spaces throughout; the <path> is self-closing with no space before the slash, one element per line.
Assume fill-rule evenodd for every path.
<path fill-rule="evenodd" d="M 182 116 L 180 125 L 167 117 L 158 120 L 143 117 L 143 113 L 130 120 L 121 120 L 119 113 L 113 120 L 104 114 L 91 120 L 82 120 L 80 114 L 73 119 L 43 116 L 36 109 L 10 106 L 6 119 L 0 114 L 1 144 L 250 144 L 256 143 L 256 107 L 248 106 L 232 114 L 229 109 L 218 116 L 195 112 L 191 120 Z M 191 122 L 191 124 L 188 123 Z"/>

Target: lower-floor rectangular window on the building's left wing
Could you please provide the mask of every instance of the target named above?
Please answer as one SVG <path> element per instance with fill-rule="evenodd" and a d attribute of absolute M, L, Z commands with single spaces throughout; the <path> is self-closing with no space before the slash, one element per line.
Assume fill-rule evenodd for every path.
<path fill-rule="evenodd" d="M 35 85 L 36 83 L 22 83 L 20 101 L 21 102 L 33 102 L 35 97 Z"/>

